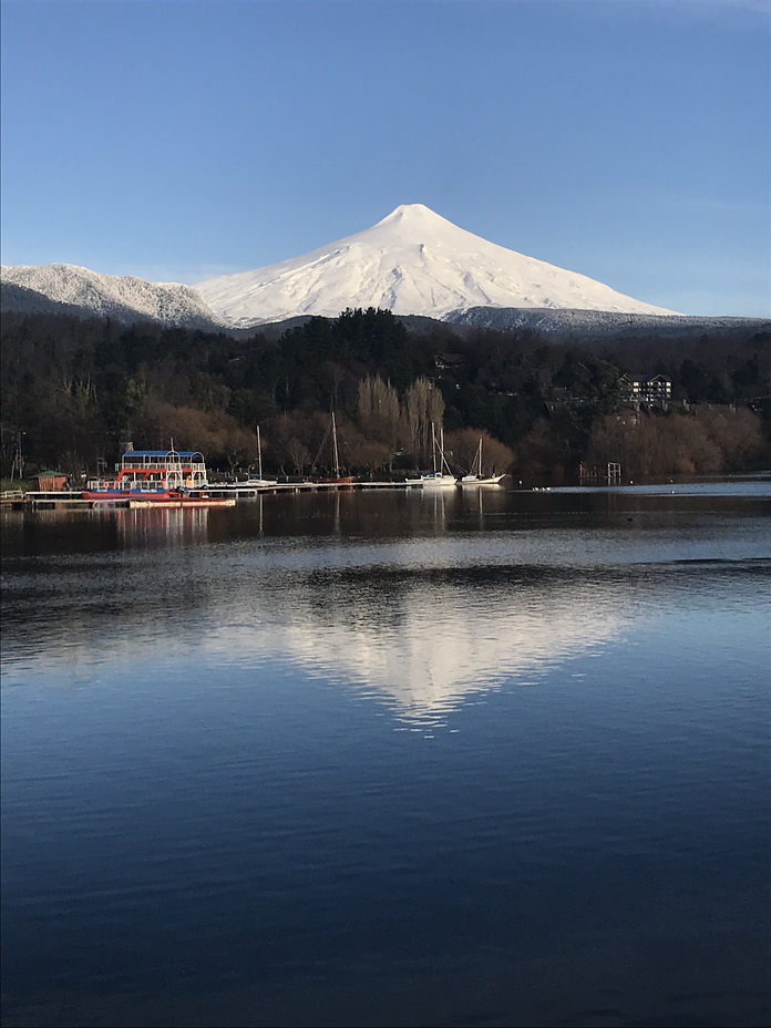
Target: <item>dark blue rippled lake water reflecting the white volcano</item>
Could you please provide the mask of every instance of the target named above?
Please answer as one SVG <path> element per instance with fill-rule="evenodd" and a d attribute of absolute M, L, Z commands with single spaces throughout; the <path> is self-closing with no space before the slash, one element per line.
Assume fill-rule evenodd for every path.
<path fill-rule="evenodd" d="M 767 1026 L 771 481 L 4 514 L 4 1026 Z"/>

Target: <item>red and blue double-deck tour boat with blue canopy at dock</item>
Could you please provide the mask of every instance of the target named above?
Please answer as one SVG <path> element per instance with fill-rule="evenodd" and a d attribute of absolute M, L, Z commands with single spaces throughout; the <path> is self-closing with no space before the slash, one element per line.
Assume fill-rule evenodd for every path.
<path fill-rule="evenodd" d="M 206 462 L 197 450 L 126 450 L 116 465 L 114 482 L 81 493 L 83 500 L 104 503 L 128 500 L 134 505 L 232 506 L 205 492 Z"/>

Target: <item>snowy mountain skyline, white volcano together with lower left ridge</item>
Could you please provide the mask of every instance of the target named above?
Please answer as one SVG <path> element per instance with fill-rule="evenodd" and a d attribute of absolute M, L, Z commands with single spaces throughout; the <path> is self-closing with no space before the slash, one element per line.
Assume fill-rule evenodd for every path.
<path fill-rule="evenodd" d="M 196 328 L 250 328 L 350 307 L 456 321 L 475 308 L 671 316 L 575 271 L 459 228 L 422 204 L 309 254 L 195 288 L 66 264 L 7 267 L 3 282 L 84 313 Z"/>

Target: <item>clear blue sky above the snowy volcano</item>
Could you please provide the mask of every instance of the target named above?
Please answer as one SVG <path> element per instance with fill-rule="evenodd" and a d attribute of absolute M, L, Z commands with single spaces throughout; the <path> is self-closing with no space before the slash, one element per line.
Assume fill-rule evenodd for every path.
<path fill-rule="evenodd" d="M 3 0 L 2 261 L 195 282 L 423 203 L 771 313 L 769 0 Z"/>

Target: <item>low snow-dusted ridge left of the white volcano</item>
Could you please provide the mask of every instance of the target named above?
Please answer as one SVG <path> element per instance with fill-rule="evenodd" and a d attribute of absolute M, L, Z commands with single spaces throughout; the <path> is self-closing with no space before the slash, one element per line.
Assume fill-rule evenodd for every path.
<path fill-rule="evenodd" d="M 100 275 L 70 264 L 3 267 L 3 309 L 45 313 L 50 301 L 81 317 L 117 321 L 161 321 L 184 328 L 216 329 L 222 322 L 191 286 L 146 282 L 133 276 Z M 21 292 L 13 287 L 27 290 Z M 35 299 L 42 296 L 48 304 Z M 48 307 L 48 309 L 47 309 Z"/>

